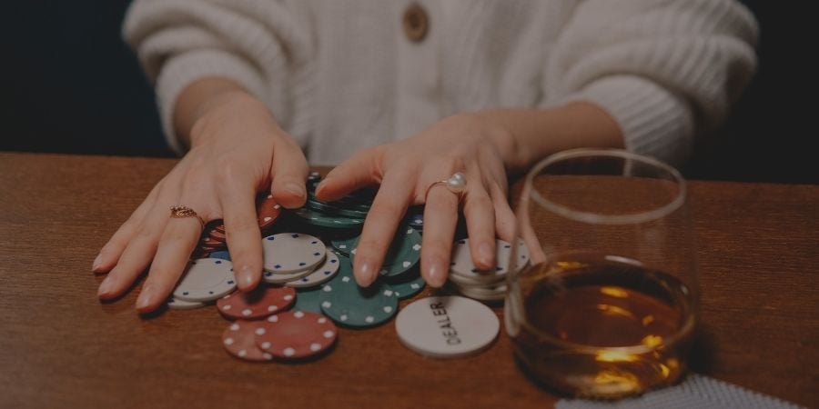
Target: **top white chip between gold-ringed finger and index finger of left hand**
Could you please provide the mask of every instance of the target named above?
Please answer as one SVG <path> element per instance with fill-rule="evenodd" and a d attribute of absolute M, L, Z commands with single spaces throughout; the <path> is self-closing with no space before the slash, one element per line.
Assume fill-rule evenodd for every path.
<path fill-rule="evenodd" d="M 233 264 L 217 258 L 198 258 L 187 264 L 187 271 L 174 290 L 174 298 L 188 302 L 207 302 L 236 290 Z"/>

